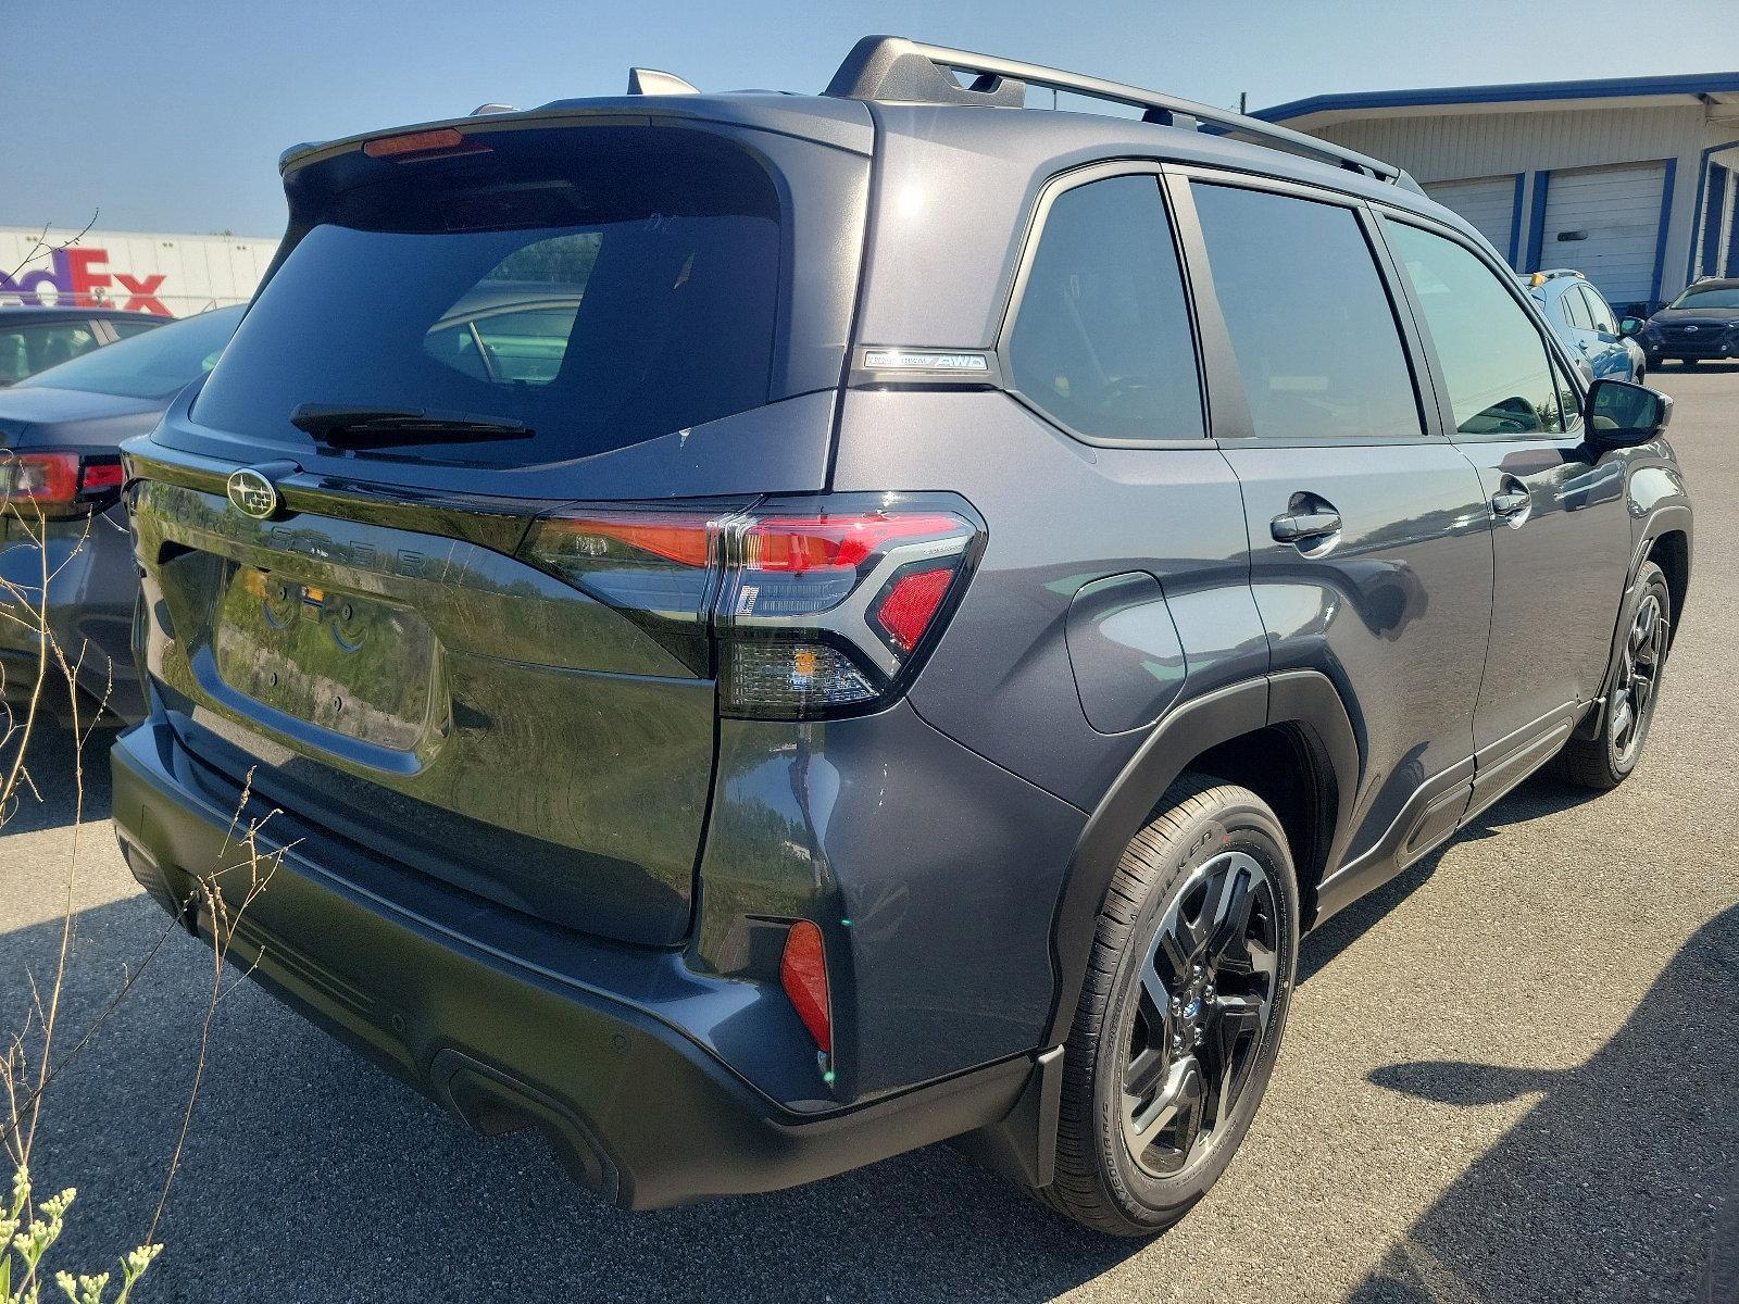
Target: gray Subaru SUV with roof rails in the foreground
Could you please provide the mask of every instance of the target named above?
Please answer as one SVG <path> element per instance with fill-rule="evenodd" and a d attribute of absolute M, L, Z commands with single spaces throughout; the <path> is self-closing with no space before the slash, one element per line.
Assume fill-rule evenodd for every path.
<path fill-rule="evenodd" d="M 1386 163 L 868 38 L 282 169 L 125 447 L 115 824 L 203 934 L 264 821 L 254 977 L 624 1207 L 956 1139 L 1158 1231 L 1303 932 L 1638 762 L 1669 402 Z"/>

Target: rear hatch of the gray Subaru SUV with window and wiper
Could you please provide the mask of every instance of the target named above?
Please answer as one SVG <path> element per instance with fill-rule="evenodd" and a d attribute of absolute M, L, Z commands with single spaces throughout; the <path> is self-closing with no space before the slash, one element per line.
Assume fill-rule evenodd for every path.
<path fill-rule="evenodd" d="M 826 483 L 868 155 L 614 110 L 438 139 L 292 169 L 235 341 L 127 447 L 141 657 L 214 781 L 675 944 L 716 737 L 685 539 Z M 555 511 L 595 523 L 562 563 Z"/>

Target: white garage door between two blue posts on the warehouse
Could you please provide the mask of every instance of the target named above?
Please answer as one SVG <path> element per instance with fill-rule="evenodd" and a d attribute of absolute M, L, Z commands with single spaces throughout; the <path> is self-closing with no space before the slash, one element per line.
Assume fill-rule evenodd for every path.
<path fill-rule="evenodd" d="M 1546 184 L 1542 268 L 1576 268 L 1614 304 L 1654 287 L 1666 163 L 1553 172 Z"/>

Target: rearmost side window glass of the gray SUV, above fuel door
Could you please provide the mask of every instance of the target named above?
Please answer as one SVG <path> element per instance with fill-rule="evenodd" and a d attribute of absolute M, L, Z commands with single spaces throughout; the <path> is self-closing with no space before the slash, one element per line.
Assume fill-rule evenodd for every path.
<path fill-rule="evenodd" d="M 1021 396 L 1092 440 L 1200 438 L 1189 309 L 1158 177 L 1063 191 L 1007 337 Z"/>

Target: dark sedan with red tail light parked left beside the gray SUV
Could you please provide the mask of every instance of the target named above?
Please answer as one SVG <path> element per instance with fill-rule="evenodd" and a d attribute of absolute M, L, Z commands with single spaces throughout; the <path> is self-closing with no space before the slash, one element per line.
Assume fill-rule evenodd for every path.
<path fill-rule="evenodd" d="M 210 370 L 240 320 L 240 308 L 219 308 L 170 322 L 0 393 L 5 702 L 26 701 L 37 683 L 40 652 L 28 622 L 3 619 L 28 603 L 47 610 L 56 642 L 78 662 L 80 687 L 92 701 L 108 697 L 123 720 L 143 715 L 130 650 L 139 575 L 120 502 L 120 442 L 151 429 L 169 400 Z M 43 701 L 50 713 L 71 715 L 64 692 L 49 692 Z"/>

